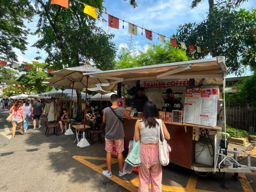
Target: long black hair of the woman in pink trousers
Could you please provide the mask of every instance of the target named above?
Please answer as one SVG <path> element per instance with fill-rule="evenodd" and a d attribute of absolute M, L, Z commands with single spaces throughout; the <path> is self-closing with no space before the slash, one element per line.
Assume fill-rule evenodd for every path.
<path fill-rule="evenodd" d="M 155 128 L 156 124 L 159 125 L 156 119 L 159 119 L 156 104 L 152 101 L 146 102 L 143 108 L 143 116 L 141 122 L 143 121 L 145 123 L 145 126 L 148 126 L 148 128 Z"/>

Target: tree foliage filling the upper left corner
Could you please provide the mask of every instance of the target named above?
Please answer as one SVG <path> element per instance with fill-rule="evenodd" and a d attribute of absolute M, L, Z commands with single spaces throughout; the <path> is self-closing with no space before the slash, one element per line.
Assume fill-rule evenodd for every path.
<path fill-rule="evenodd" d="M 27 50 L 27 36 L 30 30 L 24 20 L 32 21 L 33 6 L 28 0 L 0 1 L 0 56 L 10 63 L 18 62 L 14 48 L 23 54 Z"/>

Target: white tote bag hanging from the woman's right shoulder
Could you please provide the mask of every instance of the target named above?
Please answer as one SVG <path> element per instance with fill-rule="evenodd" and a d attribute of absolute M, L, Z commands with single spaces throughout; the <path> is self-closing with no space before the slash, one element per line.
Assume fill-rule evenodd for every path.
<path fill-rule="evenodd" d="M 167 141 L 164 139 L 163 125 L 161 119 L 158 119 L 159 129 L 158 129 L 158 142 L 159 142 L 159 161 L 162 165 L 169 164 L 169 151 L 167 149 Z M 161 132 L 160 132 L 161 130 Z M 160 140 L 160 133 L 162 135 L 163 141 Z"/>

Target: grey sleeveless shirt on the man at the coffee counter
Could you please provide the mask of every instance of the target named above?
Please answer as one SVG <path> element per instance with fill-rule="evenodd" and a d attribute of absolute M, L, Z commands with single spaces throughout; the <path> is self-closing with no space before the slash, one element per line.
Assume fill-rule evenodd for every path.
<path fill-rule="evenodd" d="M 125 108 L 117 107 L 112 108 L 116 114 L 123 119 Z M 103 109 L 106 116 L 106 135 L 109 140 L 118 140 L 124 138 L 124 127 L 122 122 L 117 118 L 113 111 L 107 107 Z"/>

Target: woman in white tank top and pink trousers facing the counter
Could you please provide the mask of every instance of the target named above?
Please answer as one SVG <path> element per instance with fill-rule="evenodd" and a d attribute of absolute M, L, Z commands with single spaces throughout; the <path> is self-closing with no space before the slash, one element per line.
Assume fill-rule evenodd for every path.
<path fill-rule="evenodd" d="M 158 110 L 152 101 L 145 103 L 142 119 L 137 120 L 134 130 L 135 141 L 140 140 L 139 192 L 148 191 L 151 180 L 152 191 L 162 191 L 162 165 L 159 162 L 158 130 L 160 124 Z M 165 124 L 161 120 L 164 138 L 169 140 Z"/>

